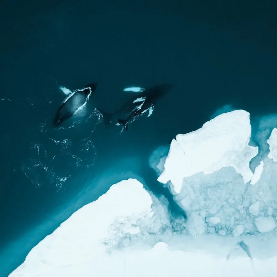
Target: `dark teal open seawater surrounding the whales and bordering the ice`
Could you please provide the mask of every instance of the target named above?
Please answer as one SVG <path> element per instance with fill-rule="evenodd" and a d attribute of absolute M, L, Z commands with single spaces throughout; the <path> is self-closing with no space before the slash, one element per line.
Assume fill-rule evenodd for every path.
<path fill-rule="evenodd" d="M 183 216 L 148 166 L 152 151 L 201 127 L 225 104 L 251 116 L 276 111 L 276 6 L 207 2 L 0 3 L 0 276 L 76 209 L 122 179 L 140 179 Z M 90 82 L 99 85 L 83 120 L 51 129 L 65 98 L 58 86 L 74 90 Z M 174 84 L 173 91 L 128 132 L 106 129 L 97 115 L 86 120 L 96 103 L 110 111 L 120 106 L 126 86 L 162 82 Z M 65 139 L 73 155 L 88 143 L 82 166 L 76 168 L 63 151 L 68 144 L 54 142 Z M 51 174 L 33 167 L 26 175 L 22 167 L 38 159 L 51 166 Z M 57 182 L 52 173 L 71 177 Z"/>

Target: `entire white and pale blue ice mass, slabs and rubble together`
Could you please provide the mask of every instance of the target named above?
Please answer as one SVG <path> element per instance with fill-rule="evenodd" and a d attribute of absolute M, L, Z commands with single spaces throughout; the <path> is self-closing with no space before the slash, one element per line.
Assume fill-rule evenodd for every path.
<path fill-rule="evenodd" d="M 249 113 L 220 114 L 149 159 L 187 219 L 135 179 L 110 187 L 48 235 L 16 276 L 277 276 L 277 132 L 256 167 Z M 276 152 L 276 153 L 275 153 Z"/>

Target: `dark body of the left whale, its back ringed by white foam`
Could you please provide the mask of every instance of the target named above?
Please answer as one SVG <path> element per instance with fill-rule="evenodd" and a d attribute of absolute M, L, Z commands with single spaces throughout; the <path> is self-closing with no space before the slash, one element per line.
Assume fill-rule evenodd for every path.
<path fill-rule="evenodd" d="M 55 114 L 53 127 L 58 127 L 66 119 L 76 114 L 79 110 L 82 110 L 82 108 L 86 105 L 87 100 L 90 98 L 90 95 L 96 90 L 97 86 L 98 83 L 94 82 L 84 86 L 82 89 L 77 89 L 72 93 L 69 93 Z"/>

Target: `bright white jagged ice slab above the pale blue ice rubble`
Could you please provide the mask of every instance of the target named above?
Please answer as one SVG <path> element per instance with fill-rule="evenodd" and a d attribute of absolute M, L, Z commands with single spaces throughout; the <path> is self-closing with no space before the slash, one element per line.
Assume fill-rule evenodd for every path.
<path fill-rule="evenodd" d="M 171 181 L 173 190 L 180 193 L 185 177 L 234 167 L 248 182 L 253 175 L 249 162 L 258 154 L 258 147 L 248 145 L 250 135 L 249 113 L 243 110 L 220 114 L 196 131 L 179 134 L 171 142 L 158 180 Z"/>

